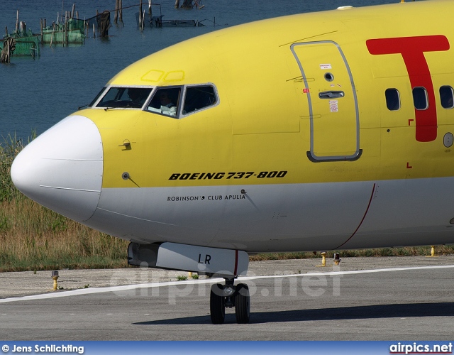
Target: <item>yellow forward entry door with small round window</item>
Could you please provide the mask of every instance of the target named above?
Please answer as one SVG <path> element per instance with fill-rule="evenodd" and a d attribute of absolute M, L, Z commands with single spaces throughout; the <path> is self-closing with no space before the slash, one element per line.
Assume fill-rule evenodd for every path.
<path fill-rule="evenodd" d="M 294 43 L 308 96 L 310 151 L 314 162 L 360 158 L 360 121 L 355 84 L 341 47 L 331 41 Z"/>

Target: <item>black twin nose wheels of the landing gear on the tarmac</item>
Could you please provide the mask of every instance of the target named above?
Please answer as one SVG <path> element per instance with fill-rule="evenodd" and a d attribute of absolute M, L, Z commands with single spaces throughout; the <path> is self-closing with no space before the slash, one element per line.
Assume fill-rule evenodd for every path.
<path fill-rule="evenodd" d="M 216 283 L 211 286 L 210 315 L 213 324 L 223 324 L 226 307 L 235 307 L 237 323 L 249 323 L 250 297 L 248 285 L 233 285 L 233 278 L 226 278 L 226 285 Z"/>

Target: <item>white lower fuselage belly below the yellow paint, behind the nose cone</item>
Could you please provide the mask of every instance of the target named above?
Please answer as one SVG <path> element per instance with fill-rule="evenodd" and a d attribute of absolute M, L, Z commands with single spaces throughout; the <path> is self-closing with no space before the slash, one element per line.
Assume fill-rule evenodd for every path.
<path fill-rule="evenodd" d="M 88 226 L 140 243 L 317 251 L 454 243 L 454 178 L 112 188 Z M 118 203 L 121 202 L 121 203 Z"/>

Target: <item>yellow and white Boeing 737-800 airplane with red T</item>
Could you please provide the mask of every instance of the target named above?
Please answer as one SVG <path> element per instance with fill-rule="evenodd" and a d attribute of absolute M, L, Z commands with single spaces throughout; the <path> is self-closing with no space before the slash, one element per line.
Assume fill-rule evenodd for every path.
<path fill-rule="evenodd" d="M 131 241 L 131 265 L 225 278 L 212 322 L 225 307 L 249 322 L 234 284 L 248 253 L 454 243 L 453 12 L 345 6 L 173 45 L 36 138 L 11 177 Z"/>

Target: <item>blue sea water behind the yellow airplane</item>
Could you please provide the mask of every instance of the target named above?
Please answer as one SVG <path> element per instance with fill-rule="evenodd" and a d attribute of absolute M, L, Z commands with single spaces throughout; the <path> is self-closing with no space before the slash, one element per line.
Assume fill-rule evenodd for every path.
<path fill-rule="evenodd" d="M 84 45 L 43 45 L 40 58 L 12 57 L 11 64 L 0 64 L 0 144 L 10 134 L 26 143 L 32 131 L 43 133 L 78 107 L 92 102 L 106 82 L 124 67 L 182 40 L 276 16 L 396 2 L 400 1 L 202 0 L 203 9 L 185 10 L 175 9 L 175 0 L 153 0 L 160 4 L 153 6 L 153 15 L 162 13 L 164 20 L 201 21 L 205 26 L 145 27 L 144 31 L 140 31 L 135 19 L 138 6 L 124 9 L 123 23 L 112 23 L 109 38 L 94 38 L 90 29 Z M 57 21 L 57 13 L 61 16 L 62 10 L 70 11 L 74 3 L 82 19 L 95 16 L 96 10 L 101 13 L 115 8 L 115 0 L 0 0 L 0 34 L 4 35 L 6 26 L 10 33 L 15 29 L 17 10 L 19 21 L 39 33 L 40 18 L 45 18 L 49 26 Z M 123 7 L 138 3 L 139 0 L 123 0 Z M 148 1 L 143 3 L 143 9 L 148 11 Z M 114 13 L 111 21 L 114 22 Z M 184 53 L 181 60 L 185 60 Z M 200 58 L 201 63 L 203 60 Z"/>

